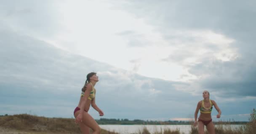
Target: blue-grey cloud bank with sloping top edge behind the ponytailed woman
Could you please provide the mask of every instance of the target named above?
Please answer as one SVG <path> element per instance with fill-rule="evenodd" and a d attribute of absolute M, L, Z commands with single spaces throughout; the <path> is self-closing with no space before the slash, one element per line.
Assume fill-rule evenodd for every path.
<path fill-rule="evenodd" d="M 176 82 L 118 70 L 8 29 L 0 31 L 0 47 L 0 60 L 4 63 L 0 64 L 0 101 L 6 106 L 22 106 L 20 113 L 34 111 L 37 115 L 72 116 L 72 110 L 61 113 L 54 107 L 75 108 L 85 75 L 91 71 L 99 75 L 96 103 L 107 113 L 106 118 L 145 119 L 158 118 L 160 114 L 162 117 L 168 116 L 171 109 L 181 105 L 190 96 L 189 93 L 176 91 L 172 86 Z M 177 95 L 179 98 L 176 98 Z M 38 105 L 56 113 L 48 113 L 45 108 L 42 111 L 32 108 Z M 126 112 L 120 113 L 120 109 Z M 143 114 L 135 115 L 134 111 Z M 152 115 L 147 111 L 155 113 Z"/>

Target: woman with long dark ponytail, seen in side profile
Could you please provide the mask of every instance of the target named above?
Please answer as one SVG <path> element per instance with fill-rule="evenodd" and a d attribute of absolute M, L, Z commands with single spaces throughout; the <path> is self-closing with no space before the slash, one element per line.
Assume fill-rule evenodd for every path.
<path fill-rule="evenodd" d="M 86 78 L 85 85 L 82 88 L 79 104 L 74 111 L 75 123 L 80 125 L 80 129 L 83 134 L 90 134 L 90 128 L 93 130 L 93 134 L 100 134 L 101 128 L 91 115 L 88 114 L 88 110 L 90 106 L 92 106 L 99 112 L 99 116 L 104 115 L 103 111 L 101 111 L 95 103 L 96 90 L 94 86 L 99 79 L 95 72 L 89 73 Z"/>

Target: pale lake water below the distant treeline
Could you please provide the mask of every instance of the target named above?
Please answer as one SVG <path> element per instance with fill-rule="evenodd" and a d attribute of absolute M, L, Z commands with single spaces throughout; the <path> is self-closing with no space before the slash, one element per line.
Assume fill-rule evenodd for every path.
<path fill-rule="evenodd" d="M 191 125 L 99 125 L 102 129 L 108 131 L 115 131 L 120 134 L 134 134 L 139 133 L 142 131 L 144 127 L 146 127 L 151 134 L 156 131 L 161 131 L 164 129 L 171 129 L 176 130 L 177 128 L 180 130 L 181 133 L 189 134 L 191 130 Z M 238 128 L 242 125 L 230 125 L 232 129 Z M 225 127 L 225 125 L 224 125 Z"/>

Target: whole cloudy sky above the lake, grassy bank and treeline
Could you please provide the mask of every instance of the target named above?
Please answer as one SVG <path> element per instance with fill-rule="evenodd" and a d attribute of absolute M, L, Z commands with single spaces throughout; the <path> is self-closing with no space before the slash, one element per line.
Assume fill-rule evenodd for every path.
<path fill-rule="evenodd" d="M 256 108 L 255 5 L 0 0 L 0 115 L 71 118 L 86 75 L 97 72 L 104 118 L 191 119 L 208 90 L 221 120 L 248 121 Z"/>

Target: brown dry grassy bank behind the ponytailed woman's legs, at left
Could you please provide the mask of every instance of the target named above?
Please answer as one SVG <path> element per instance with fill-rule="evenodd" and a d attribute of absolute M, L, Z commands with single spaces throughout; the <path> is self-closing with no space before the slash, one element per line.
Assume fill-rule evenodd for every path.
<path fill-rule="evenodd" d="M 2 116 L 0 126 L 2 131 L 15 131 L 15 134 L 81 134 L 74 119 L 46 118 L 29 114 Z M 117 133 L 102 129 L 101 134 Z"/>

